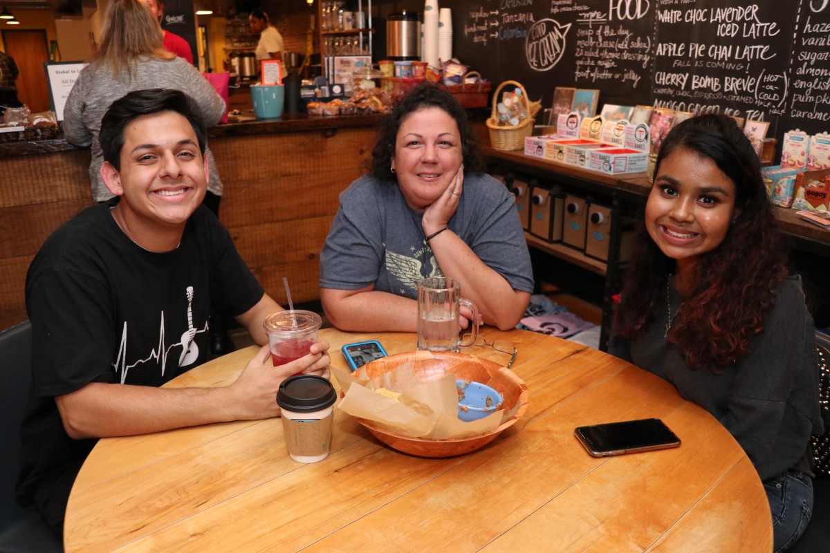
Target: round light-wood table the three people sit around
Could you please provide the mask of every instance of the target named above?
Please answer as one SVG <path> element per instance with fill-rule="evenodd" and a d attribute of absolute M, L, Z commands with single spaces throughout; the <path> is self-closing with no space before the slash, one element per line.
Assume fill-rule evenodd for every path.
<path fill-rule="evenodd" d="M 530 408 L 491 444 L 455 458 L 388 449 L 335 410 L 331 453 L 303 464 L 279 419 L 101 439 L 66 510 L 66 551 L 772 551 L 764 487 L 735 439 L 673 386 L 603 352 L 534 332 L 513 342 Z M 340 347 L 407 333 L 321 331 Z M 465 352 L 505 364 L 490 347 Z M 255 348 L 171 386 L 232 382 Z M 336 382 L 335 382 L 336 384 Z M 661 418 L 676 449 L 593 458 L 574 428 Z"/>

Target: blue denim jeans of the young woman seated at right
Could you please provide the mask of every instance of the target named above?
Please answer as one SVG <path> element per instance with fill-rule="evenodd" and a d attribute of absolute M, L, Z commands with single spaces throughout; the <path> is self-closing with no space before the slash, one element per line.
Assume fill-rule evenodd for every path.
<path fill-rule="evenodd" d="M 813 516 L 813 478 L 789 470 L 764 480 L 773 514 L 773 550 L 787 551 L 798 541 Z"/>

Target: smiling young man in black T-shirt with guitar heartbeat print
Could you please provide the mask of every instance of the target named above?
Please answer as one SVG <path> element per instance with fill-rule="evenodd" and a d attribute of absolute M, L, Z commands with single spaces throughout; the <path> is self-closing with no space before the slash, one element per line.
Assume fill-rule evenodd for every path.
<path fill-rule="evenodd" d="M 56 230 L 32 260 L 33 394 L 18 496 L 61 536 L 78 470 L 107 436 L 280 413 L 288 376 L 329 376 L 328 344 L 271 366 L 263 323 L 282 311 L 206 207 L 207 132 L 178 90 L 137 90 L 101 122 L 101 175 L 119 201 Z M 159 388 L 207 361 L 212 306 L 263 345 L 230 386 Z M 160 346 L 159 346 L 160 344 Z"/>

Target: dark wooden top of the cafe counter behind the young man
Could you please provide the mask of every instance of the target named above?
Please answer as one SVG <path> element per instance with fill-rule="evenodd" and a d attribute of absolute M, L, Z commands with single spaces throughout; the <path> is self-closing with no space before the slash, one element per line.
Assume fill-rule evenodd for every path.
<path fill-rule="evenodd" d="M 218 124 L 207 129 L 207 138 L 225 138 L 234 136 L 251 136 L 256 134 L 295 133 L 298 131 L 337 129 L 356 129 L 375 127 L 383 120 L 383 115 L 341 115 L 337 117 L 319 117 L 308 114 L 284 114 L 279 119 L 256 119 L 239 123 Z M 40 153 L 70 152 L 87 149 L 73 146 L 66 142 L 63 134 L 57 138 L 29 140 L 24 142 L 0 143 L 0 158 L 27 156 Z"/>

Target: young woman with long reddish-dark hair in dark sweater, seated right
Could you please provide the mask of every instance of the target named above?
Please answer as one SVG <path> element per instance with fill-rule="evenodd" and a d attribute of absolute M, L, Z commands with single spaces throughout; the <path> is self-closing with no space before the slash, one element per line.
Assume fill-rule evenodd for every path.
<path fill-rule="evenodd" d="M 784 551 L 813 505 L 815 330 L 758 156 L 734 119 L 701 115 L 671 129 L 638 233 L 609 352 L 730 431 L 764 481 Z"/>

